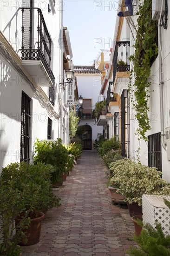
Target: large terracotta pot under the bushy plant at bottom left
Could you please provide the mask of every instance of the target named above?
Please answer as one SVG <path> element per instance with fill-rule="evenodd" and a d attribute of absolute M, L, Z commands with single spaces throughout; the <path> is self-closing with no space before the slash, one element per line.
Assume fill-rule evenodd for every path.
<path fill-rule="evenodd" d="M 28 229 L 24 229 L 23 231 L 26 232 L 27 236 L 27 243 L 21 241 L 19 245 L 33 245 L 35 243 L 39 243 L 40 231 L 41 231 L 41 222 L 44 218 L 43 212 L 38 212 L 38 218 L 31 219 L 30 226 Z M 16 218 L 15 225 L 18 225 L 22 219 Z"/>

